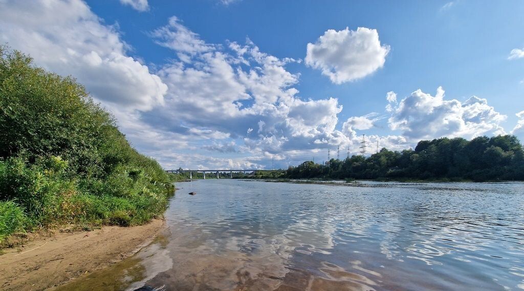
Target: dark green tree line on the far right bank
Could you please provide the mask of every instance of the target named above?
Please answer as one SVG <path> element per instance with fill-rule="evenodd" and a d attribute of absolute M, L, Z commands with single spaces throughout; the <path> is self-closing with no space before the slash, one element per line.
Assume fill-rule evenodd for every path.
<path fill-rule="evenodd" d="M 369 157 L 305 161 L 289 167 L 287 178 L 385 180 L 524 180 L 524 151 L 513 135 L 439 138 L 420 141 L 414 150 L 386 148 Z"/>

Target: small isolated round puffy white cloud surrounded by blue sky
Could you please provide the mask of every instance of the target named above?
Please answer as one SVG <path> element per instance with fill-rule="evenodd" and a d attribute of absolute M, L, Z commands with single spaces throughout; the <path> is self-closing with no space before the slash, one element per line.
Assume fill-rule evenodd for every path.
<path fill-rule="evenodd" d="M 333 83 L 341 84 L 382 68 L 389 50 L 389 46 L 380 44 L 376 29 L 330 29 L 314 44 L 308 44 L 305 63 L 322 70 Z"/>

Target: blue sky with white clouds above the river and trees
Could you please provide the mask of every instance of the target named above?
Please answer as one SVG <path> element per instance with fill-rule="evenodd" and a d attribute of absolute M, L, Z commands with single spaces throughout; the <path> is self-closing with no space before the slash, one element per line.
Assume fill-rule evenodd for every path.
<path fill-rule="evenodd" d="M 0 0 L 0 44 L 71 75 L 166 169 L 524 140 L 524 2 Z"/>

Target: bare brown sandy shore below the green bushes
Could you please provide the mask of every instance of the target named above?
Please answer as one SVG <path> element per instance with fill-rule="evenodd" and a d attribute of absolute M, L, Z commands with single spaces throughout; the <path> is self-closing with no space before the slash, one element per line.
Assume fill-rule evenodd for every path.
<path fill-rule="evenodd" d="M 137 227 L 57 232 L 0 255 L 1 290 L 45 290 L 118 262 L 147 245 L 163 220 Z"/>

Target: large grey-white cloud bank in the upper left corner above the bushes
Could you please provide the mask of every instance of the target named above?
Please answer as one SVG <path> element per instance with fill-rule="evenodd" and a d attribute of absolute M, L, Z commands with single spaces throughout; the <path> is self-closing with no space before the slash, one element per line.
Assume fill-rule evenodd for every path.
<path fill-rule="evenodd" d="M 163 104 L 167 85 L 128 56 L 116 27 L 80 0 L 0 1 L 0 41 L 74 76 L 98 100 L 139 110 Z"/>

